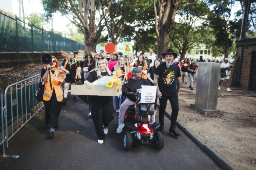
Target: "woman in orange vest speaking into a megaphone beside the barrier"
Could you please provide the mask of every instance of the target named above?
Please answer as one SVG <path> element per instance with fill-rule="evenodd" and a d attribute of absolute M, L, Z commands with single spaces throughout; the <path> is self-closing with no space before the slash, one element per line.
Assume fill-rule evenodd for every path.
<path fill-rule="evenodd" d="M 41 77 L 45 82 L 43 94 L 45 121 L 46 125 L 49 125 L 50 123 L 50 138 L 54 137 L 54 130 L 59 127 L 59 115 L 63 95 L 61 86 L 65 83 L 65 80 L 63 82 L 55 80 L 59 62 L 54 56 L 52 57 L 52 62 L 47 64 L 47 66 L 41 70 Z M 62 78 L 65 79 L 66 76 L 63 76 Z"/>

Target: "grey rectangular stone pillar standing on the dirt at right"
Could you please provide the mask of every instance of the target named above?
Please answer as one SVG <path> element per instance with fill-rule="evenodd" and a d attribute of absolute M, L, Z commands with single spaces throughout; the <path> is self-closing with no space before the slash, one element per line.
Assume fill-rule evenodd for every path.
<path fill-rule="evenodd" d="M 190 104 L 201 114 L 219 115 L 217 110 L 218 86 L 220 80 L 220 63 L 198 62 L 196 80 L 196 102 Z"/>

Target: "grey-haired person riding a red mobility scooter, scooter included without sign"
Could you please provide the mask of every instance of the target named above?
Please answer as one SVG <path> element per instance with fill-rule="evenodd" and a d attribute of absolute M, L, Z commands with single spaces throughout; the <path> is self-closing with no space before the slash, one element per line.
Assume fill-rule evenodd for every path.
<path fill-rule="evenodd" d="M 130 150 L 135 143 L 154 143 L 157 149 L 163 149 L 164 136 L 158 131 L 160 124 L 155 122 L 155 103 L 139 103 L 140 92 L 137 90 L 149 83 L 141 78 L 142 69 L 139 67 L 132 70 L 132 76 L 123 83 L 122 94 L 126 99 L 120 107 L 117 133 L 124 132 L 125 150 Z"/>

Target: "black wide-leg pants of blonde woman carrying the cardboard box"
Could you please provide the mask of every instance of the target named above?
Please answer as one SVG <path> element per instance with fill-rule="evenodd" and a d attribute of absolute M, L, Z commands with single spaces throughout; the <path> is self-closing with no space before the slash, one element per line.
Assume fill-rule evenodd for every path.
<path fill-rule="evenodd" d="M 105 139 L 103 126 L 106 128 L 114 119 L 113 97 L 91 96 L 92 121 L 98 139 Z"/>

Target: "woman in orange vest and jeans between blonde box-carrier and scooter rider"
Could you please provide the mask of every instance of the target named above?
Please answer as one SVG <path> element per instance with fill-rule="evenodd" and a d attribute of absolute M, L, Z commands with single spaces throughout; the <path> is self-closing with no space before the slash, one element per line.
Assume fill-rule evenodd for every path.
<path fill-rule="evenodd" d="M 116 76 L 118 78 L 121 78 L 122 81 L 127 80 L 127 74 L 129 73 L 128 71 L 128 67 L 125 65 L 125 59 L 123 56 L 120 56 L 118 58 L 118 62 L 117 64 L 113 67 L 113 69 L 111 70 L 112 73 L 115 71 L 116 72 Z M 115 96 L 115 101 L 116 101 L 116 112 L 119 112 L 119 108 L 120 108 L 120 96 Z"/>

